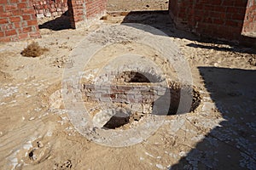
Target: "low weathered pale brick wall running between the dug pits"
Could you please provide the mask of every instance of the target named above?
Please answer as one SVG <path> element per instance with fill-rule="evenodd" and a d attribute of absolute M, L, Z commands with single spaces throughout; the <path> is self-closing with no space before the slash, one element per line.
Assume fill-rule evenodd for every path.
<path fill-rule="evenodd" d="M 148 84 L 111 86 L 84 84 L 82 91 L 88 101 L 151 104 L 166 93 L 166 88 Z"/>

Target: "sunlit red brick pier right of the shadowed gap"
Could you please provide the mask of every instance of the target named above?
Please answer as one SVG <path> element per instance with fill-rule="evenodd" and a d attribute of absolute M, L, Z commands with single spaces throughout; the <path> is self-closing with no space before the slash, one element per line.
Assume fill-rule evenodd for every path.
<path fill-rule="evenodd" d="M 89 25 L 92 19 L 100 18 L 106 13 L 107 0 L 70 0 L 71 24 L 73 28 L 85 24 Z"/>

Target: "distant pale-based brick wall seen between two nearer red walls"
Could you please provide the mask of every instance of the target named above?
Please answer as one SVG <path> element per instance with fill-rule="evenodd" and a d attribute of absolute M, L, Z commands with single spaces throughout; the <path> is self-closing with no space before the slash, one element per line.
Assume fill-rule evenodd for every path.
<path fill-rule="evenodd" d="M 67 0 L 33 0 L 38 18 L 60 16 L 67 11 Z"/>

